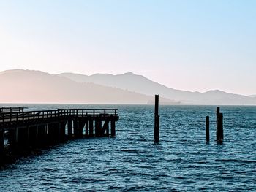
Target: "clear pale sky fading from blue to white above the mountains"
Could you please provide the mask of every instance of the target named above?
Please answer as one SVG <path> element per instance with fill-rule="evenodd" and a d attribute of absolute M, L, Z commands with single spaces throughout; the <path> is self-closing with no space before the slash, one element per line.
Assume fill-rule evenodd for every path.
<path fill-rule="evenodd" d="M 0 71 L 133 72 L 256 94 L 256 1 L 0 0 Z"/>

